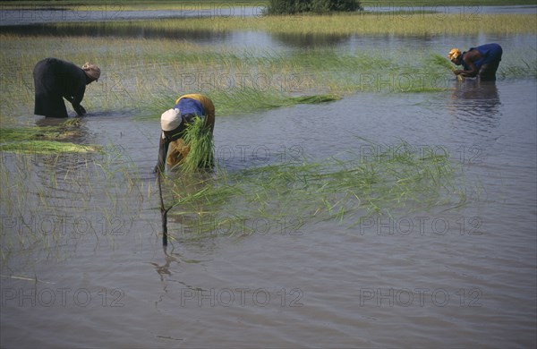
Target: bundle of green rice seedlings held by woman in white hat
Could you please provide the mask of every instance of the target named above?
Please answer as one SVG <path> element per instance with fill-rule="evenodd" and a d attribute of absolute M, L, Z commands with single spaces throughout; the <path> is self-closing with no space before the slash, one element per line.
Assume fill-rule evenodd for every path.
<path fill-rule="evenodd" d="M 213 165 L 213 135 L 205 120 L 195 117 L 184 130 L 184 142 L 189 152 L 183 158 L 181 169 L 184 172 L 193 172 L 198 168 L 209 168 Z"/>

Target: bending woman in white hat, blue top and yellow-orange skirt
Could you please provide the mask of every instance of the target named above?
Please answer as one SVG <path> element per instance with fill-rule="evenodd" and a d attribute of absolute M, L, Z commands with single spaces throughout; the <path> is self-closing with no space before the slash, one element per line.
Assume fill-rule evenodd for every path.
<path fill-rule="evenodd" d="M 174 166 L 188 155 L 190 148 L 183 140 L 183 132 L 195 116 L 203 118 L 205 126 L 213 132 L 215 106 L 207 96 L 201 94 L 188 94 L 178 98 L 175 106 L 160 116 L 162 132 L 158 143 L 158 162 L 155 172 L 164 171 L 165 162 Z"/>

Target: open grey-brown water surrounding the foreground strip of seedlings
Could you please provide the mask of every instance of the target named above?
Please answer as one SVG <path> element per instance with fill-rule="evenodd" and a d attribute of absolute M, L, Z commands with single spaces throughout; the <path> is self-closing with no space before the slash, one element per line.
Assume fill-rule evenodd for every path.
<path fill-rule="evenodd" d="M 254 220 L 248 236 L 215 226 L 195 238 L 172 210 L 177 242 L 163 251 L 158 123 L 131 112 L 81 119 L 74 141 L 104 155 L 2 153 L 13 182 L 0 209 L 1 345 L 533 347 L 537 82 L 449 88 L 217 118 L 216 155 L 232 172 L 386 150 L 357 137 L 447 150 L 462 166 L 465 206 L 352 228 L 286 217 Z M 6 194 L 13 183 L 27 185 Z"/>

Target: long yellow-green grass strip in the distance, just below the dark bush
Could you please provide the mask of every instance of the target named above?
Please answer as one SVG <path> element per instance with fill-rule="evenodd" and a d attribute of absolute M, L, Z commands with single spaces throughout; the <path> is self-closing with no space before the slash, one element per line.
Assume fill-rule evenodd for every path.
<path fill-rule="evenodd" d="M 533 14 L 479 14 L 479 13 L 354 13 L 337 15 L 246 17 L 240 21 L 231 18 L 166 19 L 148 21 L 59 22 L 43 27 L 77 32 L 96 26 L 103 30 L 153 30 L 173 35 L 174 30 L 206 30 L 226 32 L 240 30 L 302 35 L 473 35 L 534 33 L 537 16 Z"/>

